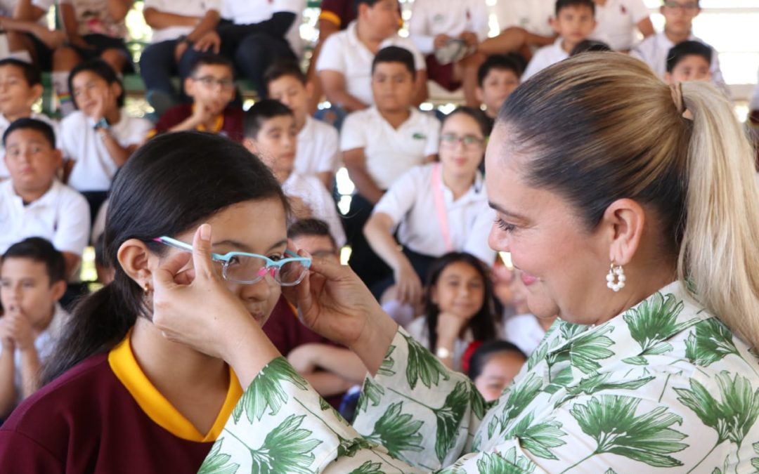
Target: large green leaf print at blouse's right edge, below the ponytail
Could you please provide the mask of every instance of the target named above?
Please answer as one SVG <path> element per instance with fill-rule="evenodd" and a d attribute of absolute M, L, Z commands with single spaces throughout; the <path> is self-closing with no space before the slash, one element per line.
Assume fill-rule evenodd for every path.
<path fill-rule="evenodd" d="M 716 431 L 716 444 L 698 464 L 709 457 L 714 448 L 724 441 L 737 444 L 740 449 L 743 438 L 759 416 L 759 389 L 752 391 L 748 378 L 735 374 L 731 379 L 729 372 L 723 370 L 716 376 L 716 382 L 721 401 L 714 398 L 707 388 L 694 378 L 691 378 L 690 389 L 674 389 L 679 395 L 677 400 L 693 410 L 704 425 Z"/>

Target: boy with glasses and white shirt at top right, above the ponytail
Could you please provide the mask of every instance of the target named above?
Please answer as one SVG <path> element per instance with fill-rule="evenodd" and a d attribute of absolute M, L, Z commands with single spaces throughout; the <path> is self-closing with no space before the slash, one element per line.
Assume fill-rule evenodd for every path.
<path fill-rule="evenodd" d="M 686 40 L 707 43 L 698 39 L 691 31 L 694 18 L 701 13 L 698 0 L 666 0 L 659 11 L 664 16 L 664 31 L 644 39 L 641 44 L 632 49 L 630 55 L 644 61 L 663 79 L 667 55 L 672 46 Z M 717 86 L 724 88 L 725 80 L 722 77 L 720 60 L 717 56 L 712 55 L 711 80 Z"/>

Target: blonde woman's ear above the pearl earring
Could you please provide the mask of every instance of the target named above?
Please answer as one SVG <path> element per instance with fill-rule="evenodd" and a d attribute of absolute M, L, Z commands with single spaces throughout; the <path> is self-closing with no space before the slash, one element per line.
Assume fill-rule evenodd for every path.
<path fill-rule="evenodd" d="M 609 232 L 609 260 L 627 265 L 638 252 L 646 224 L 646 212 L 632 199 L 617 199 L 606 208 L 601 220 Z"/>

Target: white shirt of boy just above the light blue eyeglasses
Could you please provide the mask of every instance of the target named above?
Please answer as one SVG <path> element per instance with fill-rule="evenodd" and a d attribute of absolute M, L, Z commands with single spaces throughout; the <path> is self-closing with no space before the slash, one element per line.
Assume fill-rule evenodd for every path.
<path fill-rule="evenodd" d="M 282 192 L 285 196 L 303 199 L 304 204 L 310 208 L 311 215 L 329 225 L 329 233 L 338 248 L 345 245 L 345 231 L 337 214 L 335 199 L 332 199 L 319 178 L 293 173 L 282 183 Z"/>

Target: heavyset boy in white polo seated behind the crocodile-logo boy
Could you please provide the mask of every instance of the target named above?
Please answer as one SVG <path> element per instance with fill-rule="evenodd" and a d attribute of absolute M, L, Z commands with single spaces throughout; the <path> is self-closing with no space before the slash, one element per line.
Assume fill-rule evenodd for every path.
<path fill-rule="evenodd" d="M 373 105 L 372 60 L 386 46 L 402 46 L 414 55 L 414 105 L 427 99 L 427 65 L 408 38 L 398 36 L 397 0 L 357 0 L 357 20 L 324 42 L 317 73 L 329 102 L 345 111 Z"/>

